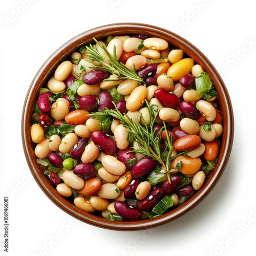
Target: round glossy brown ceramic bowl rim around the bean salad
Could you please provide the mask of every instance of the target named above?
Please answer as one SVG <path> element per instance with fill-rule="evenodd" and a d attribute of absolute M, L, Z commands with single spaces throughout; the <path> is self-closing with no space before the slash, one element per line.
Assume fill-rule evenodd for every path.
<path fill-rule="evenodd" d="M 181 206 L 175 208 L 167 214 L 163 214 L 162 216 L 154 219 L 146 219 L 135 222 L 109 221 L 92 214 L 87 214 L 86 212 L 76 208 L 64 197 L 60 196 L 56 189 L 49 183 L 44 173 L 39 169 L 39 165 L 36 162 L 36 156 L 34 155 L 35 145 L 31 141 L 30 136 L 31 116 L 33 114 L 34 102 L 41 87 L 44 86 L 48 77 L 53 72 L 58 63 L 65 60 L 68 55 L 79 49 L 82 45 L 93 42 L 93 37 L 99 40 L 107 36 L 123 34 L 132 35 L 139 33 L 164 38 L 176 48 L 182 49 L 189 57 L 193 58 L 196 63 L 200 64 L 204 71 L 210 75 L 212 83 L 218 92 L 220 110 L 223 116 L 223 135 L 220 148 L 220 157 L 215 169 L 212 170 L 202 188 Z M 27 97 L 25 99 L 22 120 L 22 139 L 25 156 L 34 179 L 40 188 L 44 191 L 44 193 L 48 196 L 48 198 L 63 211 L 67 212 L 74 218 L 94 226 L 114 230 L 137 230 L 164 224 L 182 216 L 185 214 L 185 212 L 200 203 L 209 194 L 212 188 L 214 188 L 216 182 L 219 180 L 224 171 L 231 152 L 233 140 L 232 106 L 225 84 L 223 83 L 217 70 L 214 68 L 214 66 L 212 66 L 211 62 L 205 57 L 205 55 L 194 45 L 190 44 L 190 42 L 173 32 L 151 25 L 136 23 L 111 24 L 91 29 L 72 38 L 66 42 L 66 44 L 57 49 L 41 66 L 31 83 Z"/>

